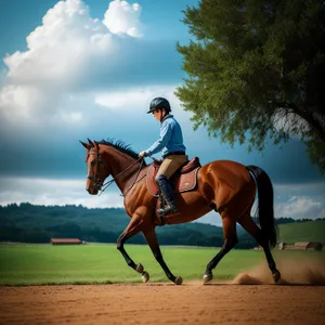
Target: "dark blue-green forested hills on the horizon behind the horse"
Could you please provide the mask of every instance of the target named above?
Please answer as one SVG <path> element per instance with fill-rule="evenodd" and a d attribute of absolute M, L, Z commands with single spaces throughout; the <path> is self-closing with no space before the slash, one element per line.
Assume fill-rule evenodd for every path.
<path fill-rule="evenodd" d="M 216 216 L 217 217 L 217 216 Z M 217 217 L 218 218 L 218 217 Z M 28 203 L 0 206 L 0 242 L 49 243 L 51 238 L 79 238 L 86 242 L 116 243 L 130 218 L 122 208 L 88 209 L 82 206 L 35 206 Z M 295 222 L 282 218 L 281 223 Z M 185 223 L 157 227 L 161 245 L 222 246 L 219 226 Z M 236 248 L 252 248 L 255 239 L 238 229 Z M 144 244 L 142 234 L 128 243 Z"/>

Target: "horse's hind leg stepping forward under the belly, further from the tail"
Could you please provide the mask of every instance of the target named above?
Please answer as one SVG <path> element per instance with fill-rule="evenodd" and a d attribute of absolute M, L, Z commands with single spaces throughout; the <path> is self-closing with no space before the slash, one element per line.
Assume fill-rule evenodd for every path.
<path fill-rule="evenodd" d="M 222 218 L 224 243 L 221 250 L 212 258 L 212 260 L 207 265 L 204 275 L 205 284 L 212 280 L 212 270 L 217 266 L 220 260 L 238 243 L 236 221 L 226 216 L 226 213 L 224 212 L 221 212 L 220 214 Z"/>

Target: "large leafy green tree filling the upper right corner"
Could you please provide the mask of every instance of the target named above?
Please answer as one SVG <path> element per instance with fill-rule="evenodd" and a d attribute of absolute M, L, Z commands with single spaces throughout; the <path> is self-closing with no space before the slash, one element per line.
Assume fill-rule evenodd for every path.
<path fill-rule="evenodd" d="M 184 15 L 177 95 L 194 129 L 260 151 L 298 136 L 325 172 L 324 1 L 202 0 Z"/>

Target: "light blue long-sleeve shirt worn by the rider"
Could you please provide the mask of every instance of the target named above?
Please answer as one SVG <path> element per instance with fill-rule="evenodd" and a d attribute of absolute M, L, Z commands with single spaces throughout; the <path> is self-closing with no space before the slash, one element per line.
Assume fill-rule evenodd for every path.
<path fill-rule="evenodd" d="M 145 153 L 152 156 L 162 151 L 162 156 L 171 152 L 185 152 L 182 129 L 172 115 L 166 115 L 160 123 L 160 136 Z"/>

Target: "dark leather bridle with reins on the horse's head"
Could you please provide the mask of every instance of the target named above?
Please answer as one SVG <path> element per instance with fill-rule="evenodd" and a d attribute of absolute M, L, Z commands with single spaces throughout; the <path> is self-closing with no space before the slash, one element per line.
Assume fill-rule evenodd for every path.
<path fill-rule="evenodd" d="M 101 165 L 104 165 L 104 168 L 105 168 L 105 162 L 104 160 L 102 159 L 102 155 L 100 154 L 100 152 L 95 152 L 95 151 L 90 151 L 89 152 L 89 155 L 98 155 L 98 168 L 96 168 L 96 174 L 95 176 L 91 176 L 91 174 L 88 174 L 87 176 L 87 179 L 90 179 L 92 181 L 94 181 L 94 187 L 95 190 L 98 191 L 101 191 L 101 194 L 112 184 L 115 182 L 115 180 L 121 176 L 122 173 L 125 173 L 127 170 L 129 170 L 130 168 L 132 168 L 135 164 L 138 164 L 140 160 L 141 160 L 141 164 L 140 164 L 140 167 L 139 167 L 139 170 L 138 170 L 138 173 L 136 173 L 136 177 L 135 177 L 135 180 L 134 182 L 132 183 L 132 185 L 128 188 L 128 191 L 126 193 L 122 194 L 122 196 L 126 196 L 127 193 L 133 187 L 133 185 L 135 184 L 136 180 L 138 180 L 138 177 L 139 177 L 139 173 L 140 173 L 140 170 L 142 169 L 142 166 L 143 166 L 143 162 L 144 162 L 144 159 L 143 157 L 140 157 L 139 159 L 136 159 L 132 165 L 130 165 L 129 167 L 127 167 L 126 169 L 123 169 L 121 172 L 119 172 L 115 178 L 113 178 L 112 180 L 109 180 L 107 183 L 104 184 L 104 180 L 102 180 L 100 178 L 100 166 Z M 100 195 L 101 195 L 100 194 Z"/>

